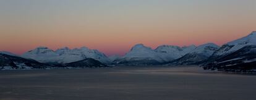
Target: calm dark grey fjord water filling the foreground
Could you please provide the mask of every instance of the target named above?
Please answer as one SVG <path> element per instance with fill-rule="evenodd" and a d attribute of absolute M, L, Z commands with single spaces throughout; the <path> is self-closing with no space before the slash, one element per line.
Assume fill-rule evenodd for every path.
<path fill-rule="evenodd" d="M 256 99 L 256 76 L 199 67 L 0 71 L 0 99 Z"/>

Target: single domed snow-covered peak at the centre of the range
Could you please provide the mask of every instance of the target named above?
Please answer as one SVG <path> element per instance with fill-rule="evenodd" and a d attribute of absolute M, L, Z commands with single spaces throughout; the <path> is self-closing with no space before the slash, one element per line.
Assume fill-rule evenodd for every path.
<path fill-rule="evenodd" d="M 125 56 L 114 62 L 126 65 L 152 65 L 164 62 L 164 60 L 153 49 L 143 44 L 136 44 Z"/>

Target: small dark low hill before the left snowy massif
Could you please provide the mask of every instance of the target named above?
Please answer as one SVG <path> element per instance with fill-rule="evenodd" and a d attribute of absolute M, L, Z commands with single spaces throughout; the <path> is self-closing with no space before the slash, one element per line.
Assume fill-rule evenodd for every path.
<path fill-rule="evenodd" d="M 91 58 L 64 64 L 64 66 L 65 67 L 108 67 L 107 65 L 102 64 L 100 61 L 91 59 Z"/>

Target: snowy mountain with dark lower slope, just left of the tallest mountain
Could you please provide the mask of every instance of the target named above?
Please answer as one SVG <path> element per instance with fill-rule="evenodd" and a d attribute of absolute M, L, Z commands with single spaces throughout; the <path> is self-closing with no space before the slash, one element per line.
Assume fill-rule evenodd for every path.
<path fill-rule="evenodd" d="M 213 43 L 202 44 L 179 59 L 171 61 L 174 65 L 197 65 L 205 62 L 220 47 Z"/>

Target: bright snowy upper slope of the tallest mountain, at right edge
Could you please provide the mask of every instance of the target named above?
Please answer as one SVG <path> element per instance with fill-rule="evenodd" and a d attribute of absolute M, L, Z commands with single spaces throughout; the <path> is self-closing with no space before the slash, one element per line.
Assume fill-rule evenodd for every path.
<path fill-rule="evenodd" d="M 256 45 L 256 31 L 253 31 L 250 33 L 250 35 L 247 35 L 243 38 L 224 44 L 220 49 L 218 49 L 218 51 L 214 52 L 211 59 L 226 56 L 249 45 Z"/>

